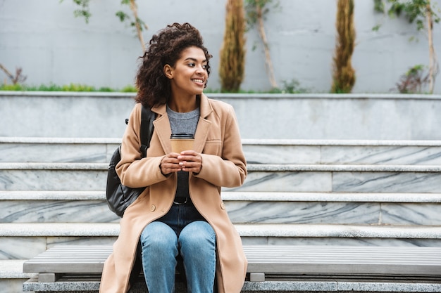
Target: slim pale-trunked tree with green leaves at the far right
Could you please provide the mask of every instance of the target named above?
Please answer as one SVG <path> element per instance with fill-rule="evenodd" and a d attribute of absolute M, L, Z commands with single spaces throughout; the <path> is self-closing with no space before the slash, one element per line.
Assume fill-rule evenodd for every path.
<path fill-rule="evenodd" d="M 374 0 L 376 4 L 380 0 Z M 385 2 L 381 1 L 382 5 L 375 5 L 375 11 L 386 13 Z M 433 24 L 440 22 L 440 16 L 437 15 L 436 9 L 430 0 L 387 0 L 390 7 L 387 9 L 387 14 L 390 17 L 399 17 L 404 14 L 410 23 L 416 23 L 418 31 L 425 30 L 428 36 L 429 48 L 429 72 L 428 84 L 429 93 L 433 93 L 435 87 L 435 77 L 439 72 L 439 65 L 433 46 Z M 439 10 L 438 10 L 439 11 Z"/>

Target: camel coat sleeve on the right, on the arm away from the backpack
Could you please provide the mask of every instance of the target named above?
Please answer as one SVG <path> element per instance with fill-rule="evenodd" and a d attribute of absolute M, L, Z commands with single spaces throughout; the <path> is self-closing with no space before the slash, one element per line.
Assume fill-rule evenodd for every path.
<path fill-rule="evenodd" d="M 247 162 L 242 150 L 239 126 L 231 105 L 228 105 L 224 126 L 222 155 L 201 154 L 202 169 L 194 175 L 223 187 L 237 187 L 247 177 Z"/>

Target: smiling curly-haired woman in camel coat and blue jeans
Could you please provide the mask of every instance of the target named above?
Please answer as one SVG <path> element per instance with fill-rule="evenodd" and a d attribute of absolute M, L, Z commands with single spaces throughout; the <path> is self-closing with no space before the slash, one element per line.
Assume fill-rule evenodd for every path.
<path fill-rule="evenodd" d="M 168 25 L 149 42 L 137 73 L 137 104 L 116 167 L 124 185 L 147 186 L 126 209 L 100 292 L 127 292 L 137 249 L 149 293 L 173 292 L 177 259 L 188 292 L 240 292 L 247 259 L 221 200 L 221 187 L 247 176 L 233 108 L 202 91 L 211 55 L 188 23 Z M 147 157 L 139 152 L 141 109 L 156 114 Z M 172 133 L 194 134 L 193 150 L 171 152 Z M 215 282 L 216 280 L 216 282 Z M 215 286 L 216 284 L 216 286 Z"/>

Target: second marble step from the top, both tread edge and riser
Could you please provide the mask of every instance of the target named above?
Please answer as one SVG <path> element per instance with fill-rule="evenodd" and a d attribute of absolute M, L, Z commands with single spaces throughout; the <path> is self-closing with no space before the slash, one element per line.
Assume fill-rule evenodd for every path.
<path fill-rule="evenodd" d="M 230 191 L 441 193 L 441 166 L 249 164 Z M 0 163 L 0 190 L 105 190 L 106 163 Z"/>

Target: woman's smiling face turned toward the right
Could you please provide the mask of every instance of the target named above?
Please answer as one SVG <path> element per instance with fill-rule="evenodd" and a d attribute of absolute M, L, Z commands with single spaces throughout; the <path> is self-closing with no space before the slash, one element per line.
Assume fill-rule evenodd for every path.
<path fill-rule="evenodd" d="M 170 79 L 173 98 L 200 95 L 209 77 L 204 51 L 196 46 L 186 48 L 175 66 L 164 66 L 164 74 Z"/>

